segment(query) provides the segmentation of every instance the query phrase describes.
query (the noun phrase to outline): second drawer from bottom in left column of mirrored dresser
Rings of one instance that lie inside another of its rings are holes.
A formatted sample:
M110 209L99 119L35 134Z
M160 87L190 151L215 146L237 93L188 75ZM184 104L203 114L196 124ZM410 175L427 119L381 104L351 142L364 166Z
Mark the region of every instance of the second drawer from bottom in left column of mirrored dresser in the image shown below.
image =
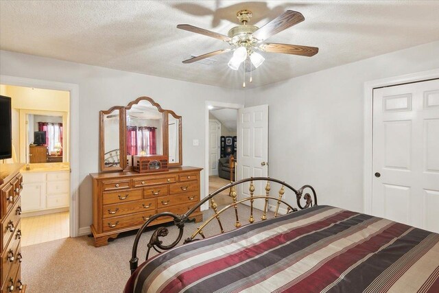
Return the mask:
M104 218L117 217L128 213L138 213L141 211L151 211L154 214L156 210L156 199L135 200L123 204L107 204L102 207L102 215Z

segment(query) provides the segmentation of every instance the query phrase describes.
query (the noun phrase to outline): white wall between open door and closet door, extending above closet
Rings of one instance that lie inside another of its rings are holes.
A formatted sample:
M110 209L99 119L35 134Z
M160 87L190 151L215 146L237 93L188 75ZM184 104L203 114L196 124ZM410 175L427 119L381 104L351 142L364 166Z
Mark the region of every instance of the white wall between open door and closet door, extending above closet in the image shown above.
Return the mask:
M269 105L270 176L363 211L364 82L438 68L434 42L246 91Z

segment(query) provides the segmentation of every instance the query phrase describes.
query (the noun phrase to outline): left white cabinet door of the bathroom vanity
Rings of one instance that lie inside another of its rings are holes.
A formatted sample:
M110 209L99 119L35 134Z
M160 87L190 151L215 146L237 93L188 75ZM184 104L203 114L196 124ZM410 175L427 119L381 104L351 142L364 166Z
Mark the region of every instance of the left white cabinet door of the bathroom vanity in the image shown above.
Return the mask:
M21 191L21 206L23 212L38 211L46 208L45 189L45 183L23 184L23 191Z

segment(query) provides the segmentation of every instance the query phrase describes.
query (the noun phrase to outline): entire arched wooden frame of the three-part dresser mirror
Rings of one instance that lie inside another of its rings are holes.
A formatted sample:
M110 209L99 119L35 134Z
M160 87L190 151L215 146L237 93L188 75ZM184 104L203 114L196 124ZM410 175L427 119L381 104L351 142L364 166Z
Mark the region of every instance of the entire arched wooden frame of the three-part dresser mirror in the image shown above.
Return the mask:
M169 144L168 144L168 115L172 115L178 120L178 162L168 163L169 167L181 166L183 162L183 152L182 152L182 117L176 115L173 110L165 110L160 104L156 103L151 97L138 97L134 101L128 103L127 106L114 106L108 110L99 111L99 165L101 167L101 172L115 172L115 171L130 171L132 166L127 164L126 156L126 111L130 110L134 104L139 104L141 101L148 101L155 106L160 113L163 115L163 156L169 156ZM121 123L119 124L119 166L118 167L105 167L104 165L104 115L112 113L113 110L119 110L119 119Z

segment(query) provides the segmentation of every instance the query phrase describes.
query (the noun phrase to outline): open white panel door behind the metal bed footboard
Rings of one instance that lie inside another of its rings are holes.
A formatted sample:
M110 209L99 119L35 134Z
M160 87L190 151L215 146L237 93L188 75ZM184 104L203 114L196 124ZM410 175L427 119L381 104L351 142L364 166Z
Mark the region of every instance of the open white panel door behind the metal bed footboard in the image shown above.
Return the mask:
M237 141L237 180L268 176L268 105L238 109ZM249 185L239 185L239 197L250 196ZM254 187L255 195L265 194L262 181ZM263 200L255 200L254 207L263 209Z

